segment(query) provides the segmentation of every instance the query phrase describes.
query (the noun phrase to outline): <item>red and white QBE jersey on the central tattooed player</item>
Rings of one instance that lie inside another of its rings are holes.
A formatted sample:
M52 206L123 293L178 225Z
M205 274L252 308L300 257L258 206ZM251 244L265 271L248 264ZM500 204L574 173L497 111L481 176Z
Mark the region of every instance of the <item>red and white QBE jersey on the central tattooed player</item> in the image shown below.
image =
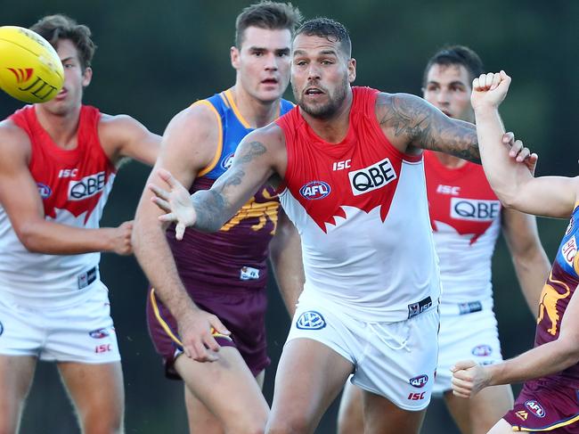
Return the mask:
M288 151L281 205L301 235L305 293L364 321L401 321L440 294L424 168L380 129L378 91L353 92L341 143L322 141L299 108L276 121Z

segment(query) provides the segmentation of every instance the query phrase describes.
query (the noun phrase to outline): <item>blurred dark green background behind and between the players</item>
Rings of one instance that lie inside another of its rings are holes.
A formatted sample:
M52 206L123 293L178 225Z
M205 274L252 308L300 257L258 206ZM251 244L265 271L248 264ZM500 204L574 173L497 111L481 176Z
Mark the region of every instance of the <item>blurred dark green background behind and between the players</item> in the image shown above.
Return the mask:
M99 45L94 79L85 102L102 111L128 113L152 131L189 103L231 86L229 63L233 23L249 1L41 1L5 4L0 25L29 27L48 13L63 12L87 24ZM420 94L428 57L441 45L474 48L487 70L504 69L513 78L502 106L508 129L515 131L540 156L539 175L575 176L579 97L579 2L517 2L514 0L294 1L306 18L330 16L345 23L357 59L356 83L386 92ZM288 94L291 98L291 95ZM0 116L20 107L0 93ZM131 163L121 169L105 209L102 225L131 219L149 168ZM539 220L542 242L554 257L567 222ZM493 261L495 304L504 356L530 348L534 318L514 278L504 242ZM186 419L180 383L167 381L149 340L144 300L146 282L134 258L103 255L102 275L110 288L113 316L123 356L128 433L184 433ZM267 326L273 364L265 379L271 402L273 375L288 330L289 317L275 285L269 285ZM518 392L519 387L515 386ZM223 397L224 400L227 397ZM333 405L317 432L335 431ZM77 424L58 375L39 364L21 432L72 433ZM422 430L456 433L444 406L435 400Z

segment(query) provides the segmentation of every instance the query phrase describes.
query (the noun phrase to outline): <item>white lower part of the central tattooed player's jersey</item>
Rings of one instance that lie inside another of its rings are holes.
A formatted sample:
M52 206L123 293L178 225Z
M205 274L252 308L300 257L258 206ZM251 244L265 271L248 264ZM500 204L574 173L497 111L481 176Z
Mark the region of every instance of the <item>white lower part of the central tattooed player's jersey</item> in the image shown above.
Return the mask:
M428 298L436 306L440 283L421 161L403 162L384 222L380 207L366 213L342 206L346 218L336 217L324 233L289 190L280 200L301 235L305 292L368 322L404 320Z

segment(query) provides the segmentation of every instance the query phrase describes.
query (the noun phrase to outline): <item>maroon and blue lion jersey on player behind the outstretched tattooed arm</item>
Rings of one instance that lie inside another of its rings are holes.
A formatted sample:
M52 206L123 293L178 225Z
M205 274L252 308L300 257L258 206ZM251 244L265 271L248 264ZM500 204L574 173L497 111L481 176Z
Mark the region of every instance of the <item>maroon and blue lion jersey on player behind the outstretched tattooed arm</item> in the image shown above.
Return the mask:
M215 113L219 143L213 161L192 184L192 193L211 188L231 167L243 137L254 129L243 119L231 90L195 103L205 104ZM281 100L280 115L292 108L291 102ZM177 270L193 297L205 291L265 289L268 246L277 226L279 206L277 193L266 184L216 233L187 229L179 242L175 240L175 226L167 228Z

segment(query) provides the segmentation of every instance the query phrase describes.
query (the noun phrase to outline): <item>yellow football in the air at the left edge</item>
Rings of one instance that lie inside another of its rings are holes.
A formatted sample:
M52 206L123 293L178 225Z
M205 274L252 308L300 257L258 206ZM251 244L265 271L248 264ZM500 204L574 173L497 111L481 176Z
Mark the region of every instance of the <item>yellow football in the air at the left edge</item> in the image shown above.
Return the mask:
M0 27L0 88L23 102L47 102L64 84L61 60L44 37L17 26Z

